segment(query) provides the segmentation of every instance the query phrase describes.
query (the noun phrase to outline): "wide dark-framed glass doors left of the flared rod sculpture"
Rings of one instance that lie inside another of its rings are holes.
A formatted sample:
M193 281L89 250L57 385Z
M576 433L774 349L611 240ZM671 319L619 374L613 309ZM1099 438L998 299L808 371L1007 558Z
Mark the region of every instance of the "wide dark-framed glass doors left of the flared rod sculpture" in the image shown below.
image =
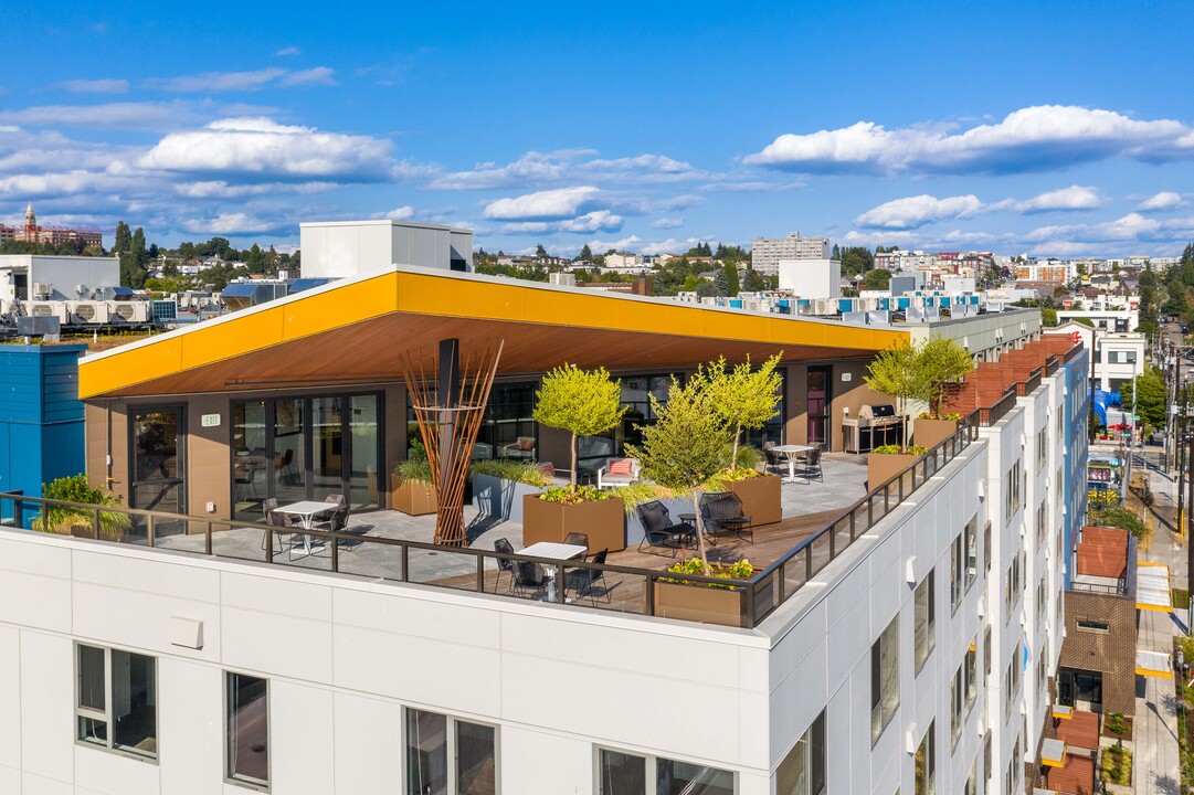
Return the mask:
M381 406L378 394L234 402L235 518L259 520L270 497L287 505L344 494L355 511L380 507Z

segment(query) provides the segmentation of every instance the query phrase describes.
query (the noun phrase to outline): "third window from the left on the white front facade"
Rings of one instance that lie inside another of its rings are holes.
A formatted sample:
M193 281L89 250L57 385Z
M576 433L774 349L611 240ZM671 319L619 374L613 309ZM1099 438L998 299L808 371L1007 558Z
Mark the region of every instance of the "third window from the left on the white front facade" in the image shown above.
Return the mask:
M407 709L406 795L493 795L497 737L493 726Z

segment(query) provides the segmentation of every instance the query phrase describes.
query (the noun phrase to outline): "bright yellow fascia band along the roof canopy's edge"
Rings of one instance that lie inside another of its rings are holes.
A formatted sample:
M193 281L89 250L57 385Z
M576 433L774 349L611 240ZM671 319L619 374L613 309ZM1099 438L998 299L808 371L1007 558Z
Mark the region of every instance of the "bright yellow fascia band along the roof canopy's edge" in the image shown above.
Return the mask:
M79 396L139 383L402 312L444 318L675 334L830 349L882 350L909 332L744 313L430 269L340 279L281 301L80 360Z

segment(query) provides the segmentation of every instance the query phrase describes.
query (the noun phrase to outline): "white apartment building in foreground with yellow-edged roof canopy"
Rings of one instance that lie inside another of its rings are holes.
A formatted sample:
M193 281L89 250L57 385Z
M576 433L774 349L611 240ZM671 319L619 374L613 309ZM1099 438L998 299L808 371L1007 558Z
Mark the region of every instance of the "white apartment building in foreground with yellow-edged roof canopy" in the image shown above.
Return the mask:
M504 337L507 377L542 371L544 339L644 382L719 352L783 347L794 439L821 413L832 425L876 401L856 365L906 339L400 269L88 357L90 474L112 477L113 461L119 477L135 473L140 418L179 412L176 449L190 462L177 454L170 480L216 506L235 499L238 432L293 438L308 401L314 466L328 396L361 389L383 401L375 424L340 421L351 445L376 439L375 470L388 472L405 455L407 412L386 350L448 334ZM1087 393L1075 384L1087 360L1061 337L1005 345L1002 366L980 365L950 398L970 425L727 592L740 627L640 615L650 599L547 603L411 581L406 563L362 577L315 571L326 557L269 565L263 525L238 559L223 534L239 530L217 529L204 548L208 520L230 525L211 513L190 520L190 553L0 531L0 588L37 594L0 600L0 791L1022 791L1057 671L1059 550L1081 516L1058 481L1085 472ZM250 418L258 400L273 419ZM558 436L537 444L560 446ZM210 491L217 481L224 491ZM0 499L0 516L11 505ZM351 555L339 553L341 572Z

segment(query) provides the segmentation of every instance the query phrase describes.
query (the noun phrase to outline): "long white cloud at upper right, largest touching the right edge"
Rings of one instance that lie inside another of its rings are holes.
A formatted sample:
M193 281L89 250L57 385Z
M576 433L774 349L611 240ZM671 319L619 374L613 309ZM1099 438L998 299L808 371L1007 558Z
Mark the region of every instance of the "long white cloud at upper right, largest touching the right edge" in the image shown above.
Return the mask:
M1194 156L1194 131L1171 119L1137 121L1115 111L1039 105L995 124L888 130L874 122L784 134L747 165L798 172L1015 173L1114 156L1165 161Z

